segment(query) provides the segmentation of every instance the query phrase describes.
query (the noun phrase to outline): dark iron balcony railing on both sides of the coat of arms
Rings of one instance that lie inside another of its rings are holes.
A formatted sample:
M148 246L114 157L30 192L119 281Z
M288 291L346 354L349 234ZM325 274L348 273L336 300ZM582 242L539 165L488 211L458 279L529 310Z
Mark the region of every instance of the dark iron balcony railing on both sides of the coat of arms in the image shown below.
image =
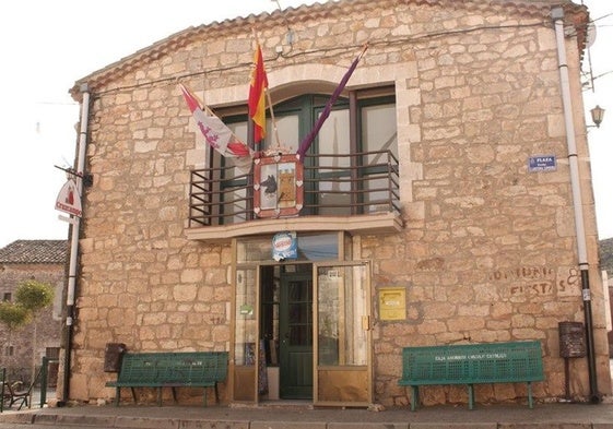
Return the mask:
M298 216L400 213L399 165L390 151L307 156L303 189ZM258 221L252 169L240 174L232 165L191 171L190 228Z

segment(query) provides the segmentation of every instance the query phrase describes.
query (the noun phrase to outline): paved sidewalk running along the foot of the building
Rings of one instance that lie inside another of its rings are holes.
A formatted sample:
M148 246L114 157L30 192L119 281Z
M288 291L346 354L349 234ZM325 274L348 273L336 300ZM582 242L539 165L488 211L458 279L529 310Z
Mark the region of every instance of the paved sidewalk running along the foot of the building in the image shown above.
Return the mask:
M613 404L479 405L381 412L307 406L114 405L32 408L0 414L0 424L150 429L613 429ZM23 425L23 426L22 426Z

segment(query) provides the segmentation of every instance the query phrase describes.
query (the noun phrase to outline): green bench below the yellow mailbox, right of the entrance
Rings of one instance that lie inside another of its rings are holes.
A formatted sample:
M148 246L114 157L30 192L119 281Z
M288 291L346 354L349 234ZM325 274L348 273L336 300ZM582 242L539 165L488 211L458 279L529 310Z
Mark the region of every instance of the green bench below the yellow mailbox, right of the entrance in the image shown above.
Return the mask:
M474 384L528 383L528 405L533 407L532 382L544 380L538 341L404 347L399 385L412 388L411 410L420 403L420 385L467 384L469 408L474 408Z

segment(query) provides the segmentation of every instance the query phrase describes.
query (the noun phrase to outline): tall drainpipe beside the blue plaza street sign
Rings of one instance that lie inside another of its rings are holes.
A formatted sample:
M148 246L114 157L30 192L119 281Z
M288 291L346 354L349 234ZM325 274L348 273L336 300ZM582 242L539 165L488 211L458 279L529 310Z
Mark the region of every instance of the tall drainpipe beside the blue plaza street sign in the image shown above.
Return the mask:
M573 104L570 100L570 84L568 81L568 64L566 63L566 47L564 44L564 10L552 9L552 19L555 27L557 58L564 109L564 123L566 126L566 143L568 145L568 165L570 168L570 186L573 189L573 205L575 212L575 230L577 235L577 252L579 257L579 272L581 273L581 295L583 298L583 318L586 322L586 346L588 372L590 381L590 402L599 404L602 401L598 393L596 374L596 353L593 344L592 307L590 294L590 275L588 252L586 246L586 230L583 224L583 204L581 201L581 186L579 167L577 164L577 144L575 141L575 124L573 122Z

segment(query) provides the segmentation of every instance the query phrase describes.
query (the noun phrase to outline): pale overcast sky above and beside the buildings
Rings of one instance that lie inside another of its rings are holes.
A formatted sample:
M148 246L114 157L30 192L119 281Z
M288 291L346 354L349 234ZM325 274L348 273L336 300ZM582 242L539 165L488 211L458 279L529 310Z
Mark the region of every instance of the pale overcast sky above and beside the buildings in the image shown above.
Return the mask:
M580 2L580 0L575 0ZM314 0L280 0L283 9ZM321 1L320 1L321 2ZM613 13L613 1L585 0L592 19ZM17 239L64 239L68 224L55 210L74 158L79 107L73 83L189 26L272 12L270 0L24 0L0 3L0 247ZM613 17L596 21L590 48L596 88L586 109L608 109L589 129L600 238L613 237ZM586 70L588 68L586 67ZM590 195L588 195L589 198Z

